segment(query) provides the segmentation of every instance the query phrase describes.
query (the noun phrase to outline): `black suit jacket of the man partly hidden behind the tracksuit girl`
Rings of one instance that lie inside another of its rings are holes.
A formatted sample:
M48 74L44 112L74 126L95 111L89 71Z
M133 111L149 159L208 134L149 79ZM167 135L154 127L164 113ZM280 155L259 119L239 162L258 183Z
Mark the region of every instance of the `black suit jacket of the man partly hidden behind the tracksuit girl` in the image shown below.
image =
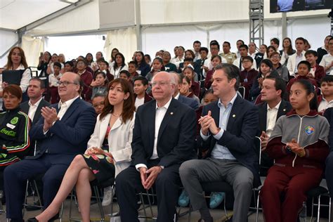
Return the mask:
M266 131L266 124L267 124L267 103L263 102L258 105L259 109L259 133L257 136L261 135L262 131ZM281 116L286 115L287 112L292 110L292 105L290 105L289 102L286 100L281 100L281 104L278 110L278 116L276 117L276 120L278 120Z

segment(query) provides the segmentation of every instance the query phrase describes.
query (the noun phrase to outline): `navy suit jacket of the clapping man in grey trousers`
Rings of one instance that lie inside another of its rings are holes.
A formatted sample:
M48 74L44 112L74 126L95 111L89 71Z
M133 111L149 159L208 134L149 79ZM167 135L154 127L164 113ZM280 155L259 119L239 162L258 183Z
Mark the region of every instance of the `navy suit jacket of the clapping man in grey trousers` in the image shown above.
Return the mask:
M202 116L207 115L209 110L211 111L211 117L214 118L216 126L218 126L220 119L218 100L205 105L202 109ZM260 185L259 150L256 150L254 145L258 125L258 107L238 95L230 111L227 128L223 136L221 136L218 141L214 136L209 136L207 141L203 141L200 136L200 149L208 150L206 157L210 157L211 151L216 143L225 146L238 162L252 171L254 175L254 186L258 186Z

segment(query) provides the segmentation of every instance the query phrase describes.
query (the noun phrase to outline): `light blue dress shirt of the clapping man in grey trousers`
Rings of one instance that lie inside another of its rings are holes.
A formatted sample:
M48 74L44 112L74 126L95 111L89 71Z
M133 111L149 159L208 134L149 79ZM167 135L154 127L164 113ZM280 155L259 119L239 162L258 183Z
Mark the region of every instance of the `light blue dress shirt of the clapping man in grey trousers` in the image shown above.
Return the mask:
M226 107L223 105L223 103L221 103L221 100L218 100L218 107L220 108L218 127L221 130L216 135L214 135L216 140L219 140L223 136L224 131L227 129L230 112L233 109L233 103L235 103L236 98L237 93L235 93L235 96L230 100ZM200 136L204 141L207 141L210 135L205 136L200 130ZM218 143L215 143L214 148L211 151L211 157L216 159L236 159L228 150L228 148L223 145L218 145Z

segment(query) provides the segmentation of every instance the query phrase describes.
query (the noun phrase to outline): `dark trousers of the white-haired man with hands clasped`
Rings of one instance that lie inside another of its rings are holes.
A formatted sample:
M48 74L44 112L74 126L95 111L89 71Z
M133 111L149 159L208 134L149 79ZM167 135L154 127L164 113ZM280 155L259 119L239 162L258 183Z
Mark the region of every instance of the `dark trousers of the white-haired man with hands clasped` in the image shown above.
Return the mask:
M158 160L148 162L148 169L158 164ZM181 185L178 164L165 167L157 176L155 188L157 193L157 221L173 221ZM116 193L122 222L138 221L138 199L136 195L143 191L140 172L135 166L129 166L116 177Z

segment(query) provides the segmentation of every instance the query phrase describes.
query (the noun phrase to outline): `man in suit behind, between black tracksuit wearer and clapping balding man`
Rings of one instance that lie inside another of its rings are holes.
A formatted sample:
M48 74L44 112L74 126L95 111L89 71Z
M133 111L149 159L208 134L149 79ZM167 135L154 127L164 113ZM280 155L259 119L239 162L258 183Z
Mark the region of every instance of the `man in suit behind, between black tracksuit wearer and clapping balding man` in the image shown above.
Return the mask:
M29 97L29 101L25 101L24 103L21 103L20 107L22 112L27 114L29 118L31 119L32 126L38 122L38 120L41 118L41 108L42 107L48 107L50 103L48 103L46 100L41 98L43 96L43 93L45 91L45 84L41 79L39 78L32 78L29 81L29 86L27 89L27 96ZM34 145L34 148L37 150L37 142L32 141L32 145ZM29 155L34 155L35 149L30 149Z

